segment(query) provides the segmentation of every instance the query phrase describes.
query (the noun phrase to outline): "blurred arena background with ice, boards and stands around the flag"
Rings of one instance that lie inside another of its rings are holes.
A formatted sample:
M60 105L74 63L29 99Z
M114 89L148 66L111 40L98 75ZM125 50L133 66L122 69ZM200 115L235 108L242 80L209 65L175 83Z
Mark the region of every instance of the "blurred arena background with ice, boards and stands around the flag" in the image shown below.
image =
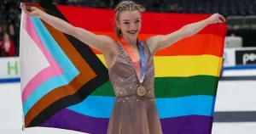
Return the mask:
M20 131L20 0L0 0L0 133ZM23 0L22 2L40 2ZM135 0L145 12L223 14L229 28L218 84L212 134L256 133L256 0ZM44 0L44 3L114 8L119 0Z

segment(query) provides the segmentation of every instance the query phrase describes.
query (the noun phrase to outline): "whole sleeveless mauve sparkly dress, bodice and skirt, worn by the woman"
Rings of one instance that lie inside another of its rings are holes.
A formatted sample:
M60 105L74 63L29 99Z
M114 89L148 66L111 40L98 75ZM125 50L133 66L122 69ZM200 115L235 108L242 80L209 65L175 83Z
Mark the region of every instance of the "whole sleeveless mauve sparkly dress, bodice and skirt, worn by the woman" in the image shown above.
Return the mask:
M113 67L108 69L116 95L108 124L108 134L162 134L160 119L154 102L154 63L146 42L143 42L147 60L143 87L144 96L137 94L138 81L131 58L123 46Z

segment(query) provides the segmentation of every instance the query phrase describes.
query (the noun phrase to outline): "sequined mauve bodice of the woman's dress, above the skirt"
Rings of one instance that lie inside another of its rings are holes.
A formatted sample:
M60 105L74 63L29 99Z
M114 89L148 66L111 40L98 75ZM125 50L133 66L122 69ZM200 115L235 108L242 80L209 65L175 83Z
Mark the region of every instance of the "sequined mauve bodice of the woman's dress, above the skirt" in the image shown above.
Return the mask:
M145 98L154 98L154 62L146 42L142 42L146 56L146 75L143 81L143 87L146 89ZM110 81L117 98L134 98L137 96L137 87L140 85L136 71L129 55L124 47L119 45L119 54L113 64L108 69ZM130 100L130 99L129 99Z

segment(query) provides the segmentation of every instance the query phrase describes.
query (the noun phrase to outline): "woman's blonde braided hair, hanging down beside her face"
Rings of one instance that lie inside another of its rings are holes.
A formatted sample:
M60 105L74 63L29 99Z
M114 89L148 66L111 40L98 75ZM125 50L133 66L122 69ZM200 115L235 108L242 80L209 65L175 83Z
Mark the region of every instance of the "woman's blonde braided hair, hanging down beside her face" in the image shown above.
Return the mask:
M117 5L117 7L114 9L115 12L115 21L114 21L114 32L116 36L119 38L122 36L122 31L119 29L119 27L116 24L116 21L119 21L119 14L122 11L133 11L138 10L140 12L140 7L137 3L134 3L132 1L123 1Z

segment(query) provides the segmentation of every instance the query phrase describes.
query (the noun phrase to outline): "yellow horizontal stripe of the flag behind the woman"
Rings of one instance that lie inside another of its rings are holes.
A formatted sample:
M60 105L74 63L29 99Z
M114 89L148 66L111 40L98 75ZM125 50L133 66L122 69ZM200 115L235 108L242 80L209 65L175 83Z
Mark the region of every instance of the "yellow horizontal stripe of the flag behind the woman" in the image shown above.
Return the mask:
M106 65L102 54L97 54ZM212 75L220 73L222 58L213 55L155 56L155 77Z

